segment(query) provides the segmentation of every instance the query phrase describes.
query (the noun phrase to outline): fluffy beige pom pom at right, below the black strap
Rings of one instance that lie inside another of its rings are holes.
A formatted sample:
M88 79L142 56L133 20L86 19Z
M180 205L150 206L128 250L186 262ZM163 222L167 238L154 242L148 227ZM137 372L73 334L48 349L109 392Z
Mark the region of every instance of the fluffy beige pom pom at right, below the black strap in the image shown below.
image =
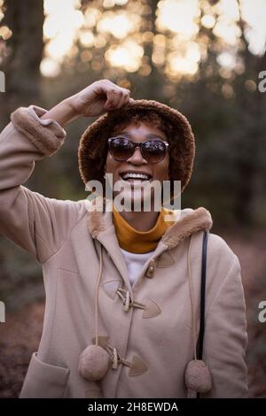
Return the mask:
M189 390L207 393L212 388L209 369L205 362L200 359L194 359L188 363L184 377L186 387Z

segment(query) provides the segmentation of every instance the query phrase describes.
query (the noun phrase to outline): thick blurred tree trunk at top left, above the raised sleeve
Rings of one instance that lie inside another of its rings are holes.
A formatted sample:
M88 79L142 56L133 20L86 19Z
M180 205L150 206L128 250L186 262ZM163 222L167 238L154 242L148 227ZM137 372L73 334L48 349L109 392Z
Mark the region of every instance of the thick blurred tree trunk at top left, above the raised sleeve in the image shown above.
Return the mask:
M40 63L43 58L43 0L5 0L1 24L12 30L6 41L3 69L6 93L0 94L1 126L20 105L35 102L40 96Z

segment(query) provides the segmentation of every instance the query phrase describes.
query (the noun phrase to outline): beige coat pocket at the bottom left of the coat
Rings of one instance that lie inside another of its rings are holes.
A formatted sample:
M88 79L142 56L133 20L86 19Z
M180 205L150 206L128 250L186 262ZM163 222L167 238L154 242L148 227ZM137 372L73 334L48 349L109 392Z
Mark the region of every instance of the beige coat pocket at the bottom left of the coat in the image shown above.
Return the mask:
M69 373L68 368L43 363L34 352L27 369L20 398L64 397Z

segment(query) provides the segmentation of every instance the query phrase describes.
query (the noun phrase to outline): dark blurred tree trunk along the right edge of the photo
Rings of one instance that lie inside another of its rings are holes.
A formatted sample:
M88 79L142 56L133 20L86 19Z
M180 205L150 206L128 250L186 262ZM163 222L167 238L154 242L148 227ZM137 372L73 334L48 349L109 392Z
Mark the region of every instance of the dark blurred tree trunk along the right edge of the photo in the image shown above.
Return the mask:
M266 185L266 120L263 116L266 112L266 96L256 88L259 73L266 68L266 50L262 55L250 52L245 36L248 27L242 19L240 5L239 16L240 39L243 42L243 49L239 52L246 72L241 75L240 82L234 82L236 108L240 117L233 131L236 132L238 128L241 132L237 143L236 161L240 181L235 198L235 214L240 223L250 225L262 214L260 207L254 204L258 181L264 185L261 190Z

